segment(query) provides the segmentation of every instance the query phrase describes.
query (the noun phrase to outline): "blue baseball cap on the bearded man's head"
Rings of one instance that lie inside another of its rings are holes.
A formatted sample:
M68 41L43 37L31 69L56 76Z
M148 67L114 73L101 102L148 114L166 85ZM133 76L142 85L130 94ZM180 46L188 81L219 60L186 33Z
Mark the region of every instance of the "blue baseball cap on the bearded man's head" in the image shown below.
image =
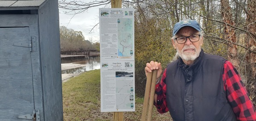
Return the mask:
M190 20L190 19L185 19L185 20L181 20L180 22L178 23L175 23L174 25L174 29L173 29L173 32L172 32L172 35L176 35L177 32L179 32L179 30L182 28L182 27L185 27L185 26L190 26L190 27L193 27L195 30L197 30L198 32L201 32L201 28L200 28L200 25L199 23L196 21L196 20Z

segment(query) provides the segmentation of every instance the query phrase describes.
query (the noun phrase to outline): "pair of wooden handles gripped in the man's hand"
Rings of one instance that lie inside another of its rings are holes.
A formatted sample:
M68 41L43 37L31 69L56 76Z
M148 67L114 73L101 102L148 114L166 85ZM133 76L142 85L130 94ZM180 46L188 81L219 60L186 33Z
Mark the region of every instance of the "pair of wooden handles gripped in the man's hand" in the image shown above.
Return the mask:
M157 80L157 70L153 70L153 72L148 73L141 121L146 121L147 114L148 114L147 121L151 121L152 119L156 80ZM149 105L148 105L148 98L149 98Z

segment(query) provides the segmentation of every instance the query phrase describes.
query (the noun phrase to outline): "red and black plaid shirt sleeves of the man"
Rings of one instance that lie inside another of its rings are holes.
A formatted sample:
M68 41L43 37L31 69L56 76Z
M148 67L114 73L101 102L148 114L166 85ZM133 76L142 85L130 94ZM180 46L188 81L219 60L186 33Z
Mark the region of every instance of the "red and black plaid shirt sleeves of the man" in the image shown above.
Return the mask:
M166 70L163 72L162 79L156 85L157 102L154 105L158 112L165 113L169 109L166 105ZM256 121L256 111L252 101L244 87L241 77L235 67L229 61L224 63L224 71L222 74L224 83L224 91L226 92L227 101L236 114L239 121Z

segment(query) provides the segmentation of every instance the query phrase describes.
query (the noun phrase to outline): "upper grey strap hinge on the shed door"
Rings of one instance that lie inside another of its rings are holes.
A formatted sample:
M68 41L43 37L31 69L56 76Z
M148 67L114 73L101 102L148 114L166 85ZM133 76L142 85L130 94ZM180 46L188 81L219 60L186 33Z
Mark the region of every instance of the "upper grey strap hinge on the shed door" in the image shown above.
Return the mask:
M28 41L21 41L21 42L17 42L17 43L13 43L12 46L22 46L22 47L29 47L30 52L32 51L36 51L37 50L37 41L36 41L36 37L32 36L30 38L30 40Z

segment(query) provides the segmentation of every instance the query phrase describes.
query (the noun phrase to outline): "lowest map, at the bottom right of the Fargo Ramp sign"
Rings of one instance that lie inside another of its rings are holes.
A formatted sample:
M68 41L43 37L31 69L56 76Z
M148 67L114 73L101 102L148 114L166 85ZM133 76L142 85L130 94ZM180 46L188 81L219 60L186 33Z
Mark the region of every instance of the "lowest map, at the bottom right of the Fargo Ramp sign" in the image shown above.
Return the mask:
M116 94L116 109L133 109L134 95L132 93Z

